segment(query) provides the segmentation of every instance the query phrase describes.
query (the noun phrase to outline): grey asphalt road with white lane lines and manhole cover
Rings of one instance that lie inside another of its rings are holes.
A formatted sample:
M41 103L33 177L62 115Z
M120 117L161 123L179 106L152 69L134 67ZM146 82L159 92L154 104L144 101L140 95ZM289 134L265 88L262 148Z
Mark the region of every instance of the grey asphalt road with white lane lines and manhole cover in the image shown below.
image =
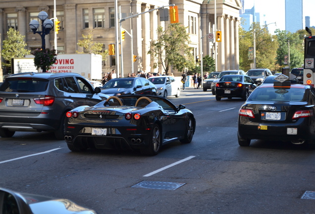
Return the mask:
M99 214L315 214L315 194L301 199L315 191L314 149L257 140L240 147L240 99L215 101L193 88L169 99L196 117L190 144L165 145L154 157L74 153L51 133L17 132L0 138L0 187L66 198Z

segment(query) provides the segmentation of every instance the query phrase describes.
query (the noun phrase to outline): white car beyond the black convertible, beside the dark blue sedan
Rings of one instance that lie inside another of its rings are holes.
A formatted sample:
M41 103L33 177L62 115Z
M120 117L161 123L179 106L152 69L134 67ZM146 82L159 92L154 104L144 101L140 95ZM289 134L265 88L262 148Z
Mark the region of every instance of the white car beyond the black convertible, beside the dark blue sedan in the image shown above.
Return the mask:
M180 82L171 76L155 76L148 79L157 87L157 96L166 98L167 96L179 97Z

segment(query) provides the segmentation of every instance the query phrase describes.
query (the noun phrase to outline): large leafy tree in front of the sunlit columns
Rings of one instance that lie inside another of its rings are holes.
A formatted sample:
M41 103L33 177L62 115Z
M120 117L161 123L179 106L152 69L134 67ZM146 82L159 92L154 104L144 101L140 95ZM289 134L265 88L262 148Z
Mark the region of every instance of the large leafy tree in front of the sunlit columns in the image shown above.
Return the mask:
M189 47L190 37L182 24L169 24L165 30L158 26L157 38L152 41L148 52L157 60L154 68L162 66L167 75L170 66L180 72L195 66L192 48Z

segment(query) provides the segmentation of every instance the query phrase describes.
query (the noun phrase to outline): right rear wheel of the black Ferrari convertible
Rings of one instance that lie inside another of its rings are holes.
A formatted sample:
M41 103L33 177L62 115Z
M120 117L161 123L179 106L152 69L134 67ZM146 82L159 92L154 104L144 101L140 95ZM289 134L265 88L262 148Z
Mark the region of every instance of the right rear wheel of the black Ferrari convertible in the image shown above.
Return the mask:
M155 156L158 154L162 145L161 130L157 124L153 125L150 136L149 146L145 149L141 149L140 152L143 155Z

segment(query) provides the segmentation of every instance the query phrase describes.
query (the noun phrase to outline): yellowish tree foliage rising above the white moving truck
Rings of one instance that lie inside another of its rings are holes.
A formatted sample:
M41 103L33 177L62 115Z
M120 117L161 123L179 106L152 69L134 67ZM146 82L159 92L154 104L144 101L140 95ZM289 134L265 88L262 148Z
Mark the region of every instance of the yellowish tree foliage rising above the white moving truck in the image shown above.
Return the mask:
M77 45L83 48L83 52L78 52L78 54L100 54L102 55L102 60L106 60L108 56L108 50L103 51L103 44L97 43L93 40L93 35L91 32L89 35L83 35L83 40L79 40Z

